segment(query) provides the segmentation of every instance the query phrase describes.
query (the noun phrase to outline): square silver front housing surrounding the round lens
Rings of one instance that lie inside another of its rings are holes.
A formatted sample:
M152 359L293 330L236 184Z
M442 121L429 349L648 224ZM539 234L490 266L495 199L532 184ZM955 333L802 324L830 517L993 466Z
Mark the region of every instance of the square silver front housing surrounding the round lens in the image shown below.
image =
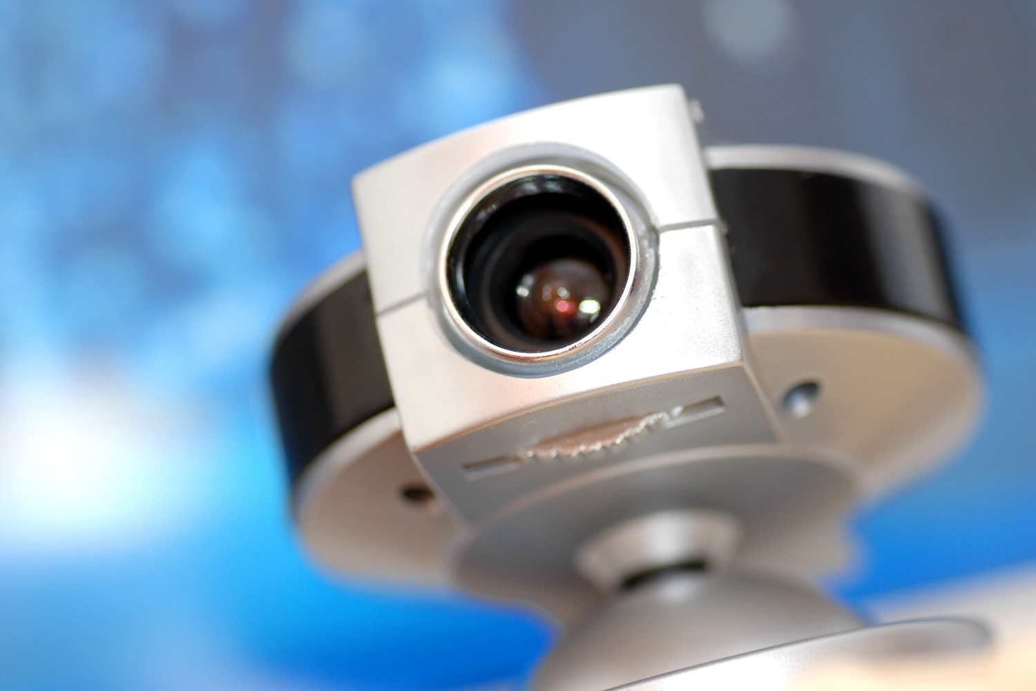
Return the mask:
M623 192L639 199L651 224L637 229L644 254L671 257L672 268L663 260L657 277L645 277L651 300L640 314L629 315L636 326L606 351L592 352L592 358L573 353L563 363L568 367L553 374L530 368L514 376L524 363L500 372L454 345L443 328L454 320L443 314L436 263L449 220L463 208L458 200L487 177L544 159L596 169L594 177L607 171L625 183ZM426 173L430 168L436 173ZM412 186L403 189L405 180ZM744 366L740 306L722 230L679 88L587 98L506 118L380 164L356 177L354 191L404 436L441 500L465 521L585 472L586 464L518 459L534 444L601 423L719 397L738 416L739 429L726 435L716 430L709 445L775 440ZM672 448L686 445L674 440ZM499 472L505 469L515 472Z

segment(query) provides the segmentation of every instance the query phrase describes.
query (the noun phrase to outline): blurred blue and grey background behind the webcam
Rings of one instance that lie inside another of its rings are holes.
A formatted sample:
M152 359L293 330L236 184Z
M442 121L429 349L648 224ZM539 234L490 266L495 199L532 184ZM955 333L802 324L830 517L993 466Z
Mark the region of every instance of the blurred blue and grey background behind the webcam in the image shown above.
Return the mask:
M307 562L267 351L357 246L352 174L662 82L707 142L881 156L951 222L983 427L829 587L1036 560L1036 2L0 0L0 688L520 683L533 614Z

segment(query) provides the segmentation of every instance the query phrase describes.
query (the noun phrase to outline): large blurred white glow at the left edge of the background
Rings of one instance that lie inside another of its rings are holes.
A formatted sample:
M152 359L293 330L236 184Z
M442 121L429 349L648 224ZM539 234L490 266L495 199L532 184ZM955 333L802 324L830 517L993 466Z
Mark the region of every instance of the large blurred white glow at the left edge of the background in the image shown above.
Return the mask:
M0 550L139 543L196 512L181 416L111 379L30 367L0 411Z

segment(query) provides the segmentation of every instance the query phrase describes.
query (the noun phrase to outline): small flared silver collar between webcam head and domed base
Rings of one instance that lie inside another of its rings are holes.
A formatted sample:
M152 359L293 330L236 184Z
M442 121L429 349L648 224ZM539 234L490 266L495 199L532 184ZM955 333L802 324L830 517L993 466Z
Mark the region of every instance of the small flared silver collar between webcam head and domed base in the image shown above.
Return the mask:
M580 576L604 593L653 570L700 564L721 571L741 539L741 522L709 509L672 509L637 516L605 528L576 550Z

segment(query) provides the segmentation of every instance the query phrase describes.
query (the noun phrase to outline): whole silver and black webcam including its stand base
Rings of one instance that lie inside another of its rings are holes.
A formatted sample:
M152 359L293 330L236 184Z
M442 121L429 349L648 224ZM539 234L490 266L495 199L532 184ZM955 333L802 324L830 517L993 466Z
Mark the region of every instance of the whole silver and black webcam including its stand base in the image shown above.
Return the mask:
M354 178L363 249L274 346L303 541L538 607L566 634L535 691L982 647L812 585L846 513L980 408L932 205L854 153L702 148L699 114L671 85L579 98Z

